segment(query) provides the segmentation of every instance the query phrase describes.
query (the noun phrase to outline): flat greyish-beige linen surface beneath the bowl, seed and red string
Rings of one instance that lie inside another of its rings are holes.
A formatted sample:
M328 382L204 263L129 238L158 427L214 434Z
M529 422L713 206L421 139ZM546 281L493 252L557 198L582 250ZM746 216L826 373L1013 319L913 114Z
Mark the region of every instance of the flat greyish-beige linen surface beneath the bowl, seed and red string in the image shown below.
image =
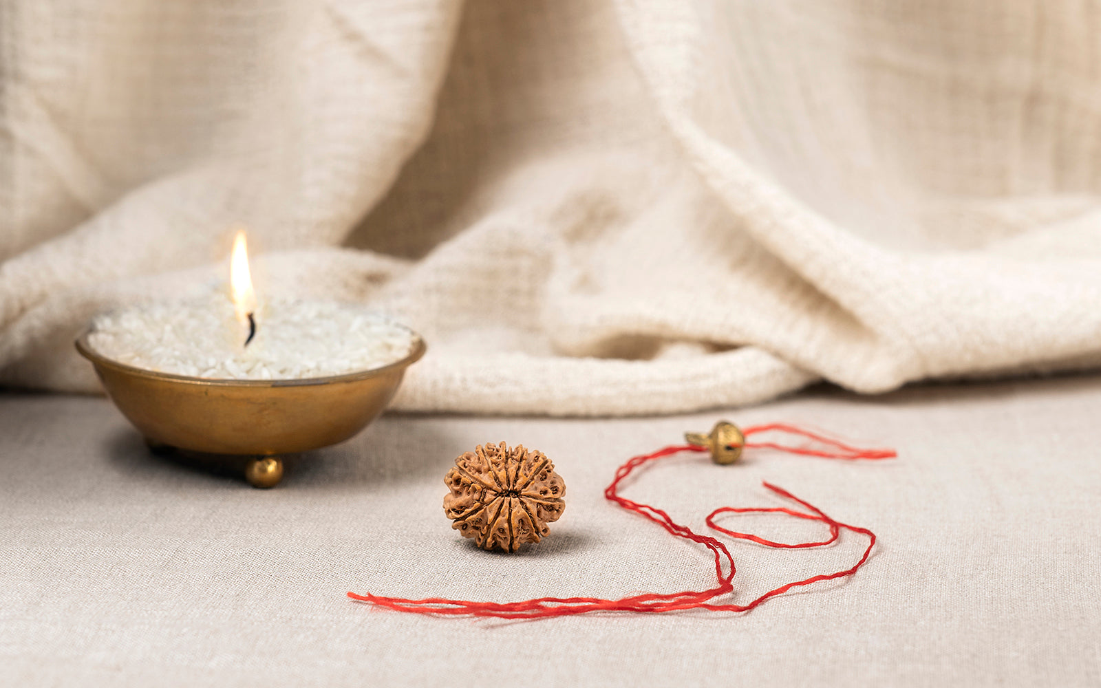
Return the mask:
M880 544L844 582L742 615L426 618L349 590L510 601L713 583L705 548L613 507L635 454L717 414L631 419L386 415L259 491L150 455L106 400L0 395L0 685L1097 686L1101 379L814 391L730 416L826 427L900 451L844 462L686 454L622 490L706 531L722 505L780 506L775 482ZM545 451L567 507L537 546L483 553L444 516L476 444ZM774 539L820 524L730 517ZM745 602L847 568L865 540L780 552L728 540Z

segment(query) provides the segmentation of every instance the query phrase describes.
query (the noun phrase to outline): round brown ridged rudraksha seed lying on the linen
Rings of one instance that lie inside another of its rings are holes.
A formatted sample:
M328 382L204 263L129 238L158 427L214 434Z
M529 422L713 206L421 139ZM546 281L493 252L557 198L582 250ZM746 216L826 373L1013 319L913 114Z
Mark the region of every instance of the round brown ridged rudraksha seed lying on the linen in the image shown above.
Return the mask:
M566 483L542 451L486 444L455 459L444 478L451 527L482 549L515 552L537 543L566 510Z

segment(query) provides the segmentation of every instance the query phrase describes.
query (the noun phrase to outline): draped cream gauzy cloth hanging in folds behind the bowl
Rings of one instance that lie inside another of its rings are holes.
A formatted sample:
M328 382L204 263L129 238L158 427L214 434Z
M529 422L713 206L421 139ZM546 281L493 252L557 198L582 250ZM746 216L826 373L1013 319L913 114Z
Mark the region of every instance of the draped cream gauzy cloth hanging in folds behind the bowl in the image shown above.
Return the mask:
M396 404L631 414L1101 363L1069 0L0 0L0 380L221 279L429 342Z

